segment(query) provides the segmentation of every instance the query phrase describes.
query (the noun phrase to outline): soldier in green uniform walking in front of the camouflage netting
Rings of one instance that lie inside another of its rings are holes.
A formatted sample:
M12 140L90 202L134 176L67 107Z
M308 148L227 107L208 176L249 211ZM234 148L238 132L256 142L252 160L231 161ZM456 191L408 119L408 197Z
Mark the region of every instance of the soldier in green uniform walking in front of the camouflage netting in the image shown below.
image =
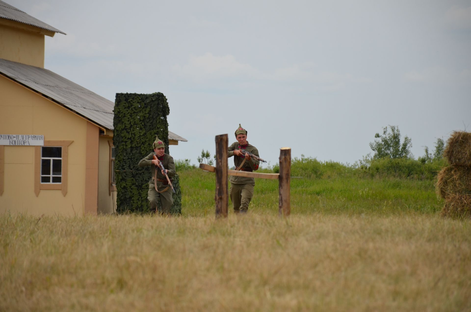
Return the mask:
M165 173L158 167L159 161L162 162L163 167L169 178L175 176L175 164L173 157L165 154L165 143L163 143L157 136L155 136L154 153L150 153L139 161L139 167L151 166L152 178L149 181L149 192L147 199L149 200L151 211L157 212L157 200L160 197L162 214L169 214L170 208L173 205L172 189L169 186ZM154 159L154 155L157 159ZM172 179L170 179L172 181Z

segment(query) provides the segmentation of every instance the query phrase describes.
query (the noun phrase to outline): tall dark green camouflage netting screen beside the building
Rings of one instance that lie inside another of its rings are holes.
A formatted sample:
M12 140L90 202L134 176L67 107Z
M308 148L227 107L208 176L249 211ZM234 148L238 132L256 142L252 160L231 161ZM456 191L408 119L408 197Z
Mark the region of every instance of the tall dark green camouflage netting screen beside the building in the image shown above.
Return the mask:
M116 93L114 103L114 150L118 213L149 213L147 200L149 167L139 167L138 162L153 152L155 135L165 142L169 154L170 108L167 98L158 92L152 94ZM178 175L173 178L171 213L181 213L181 191ZM159 203L160 209L160 203Z

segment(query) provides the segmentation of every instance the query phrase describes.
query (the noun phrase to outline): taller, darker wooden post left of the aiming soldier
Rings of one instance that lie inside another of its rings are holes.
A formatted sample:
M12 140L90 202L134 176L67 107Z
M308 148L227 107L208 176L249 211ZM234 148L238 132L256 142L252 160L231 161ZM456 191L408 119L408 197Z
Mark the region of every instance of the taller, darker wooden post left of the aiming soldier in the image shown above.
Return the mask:
M227 218L227 134L216 136L216 218Z

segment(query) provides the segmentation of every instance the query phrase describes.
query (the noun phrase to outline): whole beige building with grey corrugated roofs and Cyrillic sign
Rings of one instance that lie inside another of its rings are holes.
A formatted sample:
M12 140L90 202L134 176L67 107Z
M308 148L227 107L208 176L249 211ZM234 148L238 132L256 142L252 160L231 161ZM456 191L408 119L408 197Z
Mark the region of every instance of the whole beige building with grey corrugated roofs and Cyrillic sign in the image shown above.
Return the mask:
M44 68L56 33L0 0L0 213L115 211L114 103Z

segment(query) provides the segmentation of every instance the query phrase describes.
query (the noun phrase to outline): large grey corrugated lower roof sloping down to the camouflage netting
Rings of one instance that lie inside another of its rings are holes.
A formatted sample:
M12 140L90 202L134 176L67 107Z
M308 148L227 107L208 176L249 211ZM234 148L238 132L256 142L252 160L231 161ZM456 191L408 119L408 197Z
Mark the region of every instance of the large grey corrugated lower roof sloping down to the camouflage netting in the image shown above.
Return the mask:
M41 67L0 58L0 73L53 99L76 114L113 130L112 101Z

